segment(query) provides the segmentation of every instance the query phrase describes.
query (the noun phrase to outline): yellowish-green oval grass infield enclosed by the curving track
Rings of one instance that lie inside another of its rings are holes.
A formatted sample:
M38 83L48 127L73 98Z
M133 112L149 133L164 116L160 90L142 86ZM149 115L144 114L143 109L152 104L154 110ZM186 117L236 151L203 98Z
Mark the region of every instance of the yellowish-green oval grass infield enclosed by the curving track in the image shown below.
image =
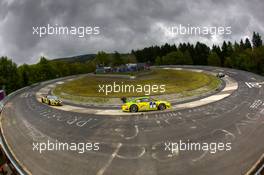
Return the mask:
M86 102L107 102L107 98L120 98L144 96L145 93L110 93L107 96L99 93L98 85L102 84L129 84L129 85L166 85L165 93L152 93L150 95L163 94L184 94L184 96L193 95L193 91L202 89L200 93L204 93L216 89L220 80L215 76L187 70L170 70L170 69L153 69L150 73L138 76L135 79L117 78L106 76L86 76L80 79L66 82L58 85L53 93L65 99ZM197 92L195 92L195 95ZM89 97L89 98L87 98ZM107 98L106 98L107 97Z

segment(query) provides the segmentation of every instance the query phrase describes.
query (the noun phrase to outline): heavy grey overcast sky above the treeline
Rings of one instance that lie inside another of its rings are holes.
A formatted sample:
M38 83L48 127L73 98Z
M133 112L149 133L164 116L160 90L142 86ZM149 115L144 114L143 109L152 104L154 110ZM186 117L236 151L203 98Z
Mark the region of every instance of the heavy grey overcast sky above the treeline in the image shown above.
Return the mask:
M219 44L264 37L263 0L0 0L0 56L16 63L106 52L130 52L163 43ZM99 26L100 34L33 35L33 26ZM165 35L176 25L231 26L231 35Z

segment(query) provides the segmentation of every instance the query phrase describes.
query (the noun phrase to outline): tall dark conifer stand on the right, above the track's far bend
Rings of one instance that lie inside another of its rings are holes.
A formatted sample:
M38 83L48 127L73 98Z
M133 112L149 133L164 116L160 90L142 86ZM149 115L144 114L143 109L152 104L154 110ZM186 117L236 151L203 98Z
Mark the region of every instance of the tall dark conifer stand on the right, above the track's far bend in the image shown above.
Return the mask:
M151 64L187 64L230 67L264 74L264 46L259 33L240 42L226 42L221 46L197 42L180 43L178 46L165 44L152 46L142 50L132 50L139 62L149 61Z

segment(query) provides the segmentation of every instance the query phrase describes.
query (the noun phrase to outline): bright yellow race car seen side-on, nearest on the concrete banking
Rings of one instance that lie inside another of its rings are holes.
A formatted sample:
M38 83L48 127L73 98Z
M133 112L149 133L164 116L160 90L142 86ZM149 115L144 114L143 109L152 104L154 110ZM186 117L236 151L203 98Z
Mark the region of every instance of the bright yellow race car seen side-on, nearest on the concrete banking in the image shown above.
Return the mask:
M170 109L171 104L167 101L156 100L151 97L139 97L122 105L124 112L155 111Z

